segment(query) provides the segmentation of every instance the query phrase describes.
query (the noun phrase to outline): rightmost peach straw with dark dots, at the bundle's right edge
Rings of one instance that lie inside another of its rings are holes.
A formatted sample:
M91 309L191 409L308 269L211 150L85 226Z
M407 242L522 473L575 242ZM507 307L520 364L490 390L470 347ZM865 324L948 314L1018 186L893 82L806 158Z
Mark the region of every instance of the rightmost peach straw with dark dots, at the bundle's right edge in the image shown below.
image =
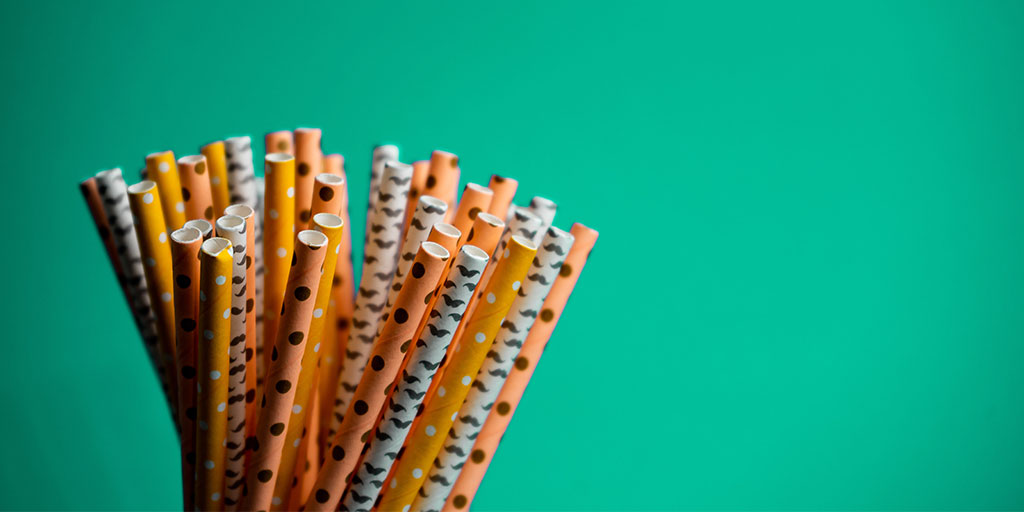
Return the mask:
M483 481L487 466L494 460L498 444L508 429L512 415L515 414L516 408L522 399L526 385L534 375L534 370L537 369L537 365L541 360L544 348L547 346L548 340L551 339L558 318L561 317L565 304L572 294L572 289L583 272L584 265L587 264L587 258L590 257L590 252L597 242L598 232L583 224L573 224L569 232L575 238L575 242L569 249L565 262L558 270L558 276L555 278L551 292L544 300L537 322L526 336L522 350L519 351L519 356L515 359L514 369L510 372L505 385L502 386L501 392L495 400L495 406L490 409L487 420L483 423L483 428L476 437L476 442L470 453L470 462L463 466L462 472L456 480L447 503L444 505L444 510L447 512L466 510L473 502L476 490L479 488L480 482Z

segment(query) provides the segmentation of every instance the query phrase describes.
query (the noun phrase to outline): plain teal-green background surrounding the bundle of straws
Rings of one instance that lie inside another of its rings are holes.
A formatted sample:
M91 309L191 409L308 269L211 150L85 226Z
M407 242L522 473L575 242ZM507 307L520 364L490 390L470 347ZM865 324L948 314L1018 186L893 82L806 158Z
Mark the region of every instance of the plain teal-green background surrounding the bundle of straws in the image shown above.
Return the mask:
M1024 508L1024 2L824 3L5 3L0 507L178 505L78 180L316 126L601 231L478 510Z

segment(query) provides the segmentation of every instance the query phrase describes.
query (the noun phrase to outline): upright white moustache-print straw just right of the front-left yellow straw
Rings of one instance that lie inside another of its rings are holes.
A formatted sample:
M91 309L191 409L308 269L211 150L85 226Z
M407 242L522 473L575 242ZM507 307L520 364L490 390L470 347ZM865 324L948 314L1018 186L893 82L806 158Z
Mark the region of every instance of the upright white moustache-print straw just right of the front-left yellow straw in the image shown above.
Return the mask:
M244 205L243 205L244 206ZM246 219L217 219L217 236L231 243L231 318L227 375L227 454L224 462L224 505L233 509L245 484L246 447Z

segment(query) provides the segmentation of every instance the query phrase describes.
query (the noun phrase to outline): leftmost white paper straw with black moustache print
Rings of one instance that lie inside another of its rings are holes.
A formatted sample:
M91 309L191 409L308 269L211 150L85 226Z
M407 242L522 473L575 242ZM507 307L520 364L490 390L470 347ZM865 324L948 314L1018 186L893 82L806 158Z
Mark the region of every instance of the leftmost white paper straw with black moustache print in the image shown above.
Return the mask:
M132 315L142 335L142 346L145 347L150 361L157 372L157 378L164 389L168 404L172 403L171 393L174 388L168 384L164 361L160 356L160 343L157 336L157 315L150 302L150 292L145 283L145 270L142 265L142 255L135 237L135 223L132 220L131 209L128 206L128 189L121 175L121 169L111 169L96 173L96 189L103 200L103 211L106 222L111 226L114 244L125 272L125 283L131 296Z

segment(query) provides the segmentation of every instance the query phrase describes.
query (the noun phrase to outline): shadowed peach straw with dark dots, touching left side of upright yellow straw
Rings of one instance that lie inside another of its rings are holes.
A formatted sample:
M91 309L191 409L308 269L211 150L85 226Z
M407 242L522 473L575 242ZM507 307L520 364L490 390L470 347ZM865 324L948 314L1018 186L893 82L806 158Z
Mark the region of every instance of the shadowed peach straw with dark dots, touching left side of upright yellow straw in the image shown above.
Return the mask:
M177 359L178 424L184 509L196 503L196 319L199 317L199 249L203 233L182 227L171 233L174 273L174 350Z

